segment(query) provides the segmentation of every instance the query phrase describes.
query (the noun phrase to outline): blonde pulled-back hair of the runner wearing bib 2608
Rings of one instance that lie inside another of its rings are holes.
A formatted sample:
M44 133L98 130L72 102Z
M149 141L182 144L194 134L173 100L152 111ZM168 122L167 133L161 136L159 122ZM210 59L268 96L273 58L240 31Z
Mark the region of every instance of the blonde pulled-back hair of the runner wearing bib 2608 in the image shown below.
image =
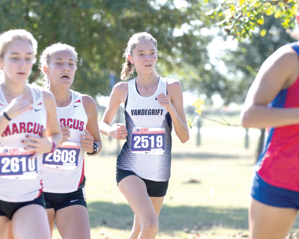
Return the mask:
M74 53L75 65L76 65L76 69L77 69L78 53L74 47L67 45L67 44L63 44L61 42L58 42L58 43L55 43L55 44L52 44L52 45L46 47L45 50L42 51L42 54L39 57L38 68L43 73L43 78L47 81L47 86L49 85L49 79L48 79L48 76L44 73L43 68L44 68L44 66L48 67L50 58L53 55L53 53L55 53L57 51L61 51L61 50L70 50L72 53Z

